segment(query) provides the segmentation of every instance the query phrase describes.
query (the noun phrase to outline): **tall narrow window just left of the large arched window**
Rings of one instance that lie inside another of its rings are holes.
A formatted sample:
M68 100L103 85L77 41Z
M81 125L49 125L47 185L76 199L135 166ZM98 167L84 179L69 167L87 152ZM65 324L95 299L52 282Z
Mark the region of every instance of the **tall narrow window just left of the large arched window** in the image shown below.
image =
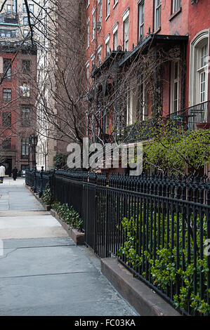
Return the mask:
M179 62L171 63L171 113L178 112L179 99Z

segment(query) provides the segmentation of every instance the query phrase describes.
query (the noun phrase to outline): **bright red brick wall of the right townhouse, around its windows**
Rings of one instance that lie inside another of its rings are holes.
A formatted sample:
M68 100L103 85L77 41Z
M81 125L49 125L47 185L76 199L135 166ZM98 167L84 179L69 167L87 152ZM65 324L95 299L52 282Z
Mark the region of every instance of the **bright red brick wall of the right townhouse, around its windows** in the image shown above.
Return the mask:
M132 50L132 45L138 43L138 0L119 0L117 6L113 8L114 0L110 0L110 17L105 20L106 1L103 0L103 20L102 29L96 33L97 38L91 42L87 49L87 60L90 60L91 70L91 54L96 50L98 45L102 44L102 60L105 58L105 41L104 37L110 33L110 48L113 49L113 33L112 27L115 22L119 22L118 27L118 44L123 46L123 21L122 13L129 7L129 51ZM86 18L90 17L90 36L92 35L92 14L94 6L98 8L98 0L90 0L90 6L86 10ZM183 0L181 10L175 15L171 15L172 0L162 0L162 26L159 34L179 34L189 35L187 49L187 71L186 71L186 93L185 107L188 107L189 94L189 71L190 71L190 42L203 29L210 29L210 1L199 0L197 4L192 5L191 0ZM151 33L154 32L154 0L145 0L145 36L150 28ZM210 54L210 51L209 51ZM169 74L170 70L167 69ZM169 112L169 84L170 77L166 77L164 82L164 113ZM210 74L209 74L210 79ZM210 95L210 80L209 80L209 95ZM208 98L209 99L209 98Z

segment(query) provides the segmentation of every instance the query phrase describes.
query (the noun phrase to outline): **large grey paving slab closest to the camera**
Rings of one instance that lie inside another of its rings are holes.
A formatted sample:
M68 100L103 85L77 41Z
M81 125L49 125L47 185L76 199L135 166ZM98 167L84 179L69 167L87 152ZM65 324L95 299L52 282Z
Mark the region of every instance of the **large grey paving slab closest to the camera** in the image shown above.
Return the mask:
M99 272L1 279L0 315L136 315Z

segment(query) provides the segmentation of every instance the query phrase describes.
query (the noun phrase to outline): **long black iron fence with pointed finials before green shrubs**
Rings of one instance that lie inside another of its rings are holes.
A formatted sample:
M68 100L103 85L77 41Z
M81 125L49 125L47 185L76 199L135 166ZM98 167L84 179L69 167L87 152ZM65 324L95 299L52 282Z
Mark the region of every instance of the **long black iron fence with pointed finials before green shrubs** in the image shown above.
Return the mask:
M68 171L48 176L53 199L80 213L86 245L100 258L116 256L184 314L208 315L209 178ZM38 173L35 178L40 187ZM34 185L29 171L26 183Z

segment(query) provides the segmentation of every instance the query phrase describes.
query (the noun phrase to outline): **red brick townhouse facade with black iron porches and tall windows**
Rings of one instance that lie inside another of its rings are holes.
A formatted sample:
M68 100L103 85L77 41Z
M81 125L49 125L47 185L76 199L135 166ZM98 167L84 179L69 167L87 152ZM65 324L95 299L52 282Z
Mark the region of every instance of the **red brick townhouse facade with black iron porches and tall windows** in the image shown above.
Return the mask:
M116 99L99 114L96 136L110 142L114 130L143 125L157 112L190 131L210 128L209 1L86 2L89 88L98 108L109 95Z

